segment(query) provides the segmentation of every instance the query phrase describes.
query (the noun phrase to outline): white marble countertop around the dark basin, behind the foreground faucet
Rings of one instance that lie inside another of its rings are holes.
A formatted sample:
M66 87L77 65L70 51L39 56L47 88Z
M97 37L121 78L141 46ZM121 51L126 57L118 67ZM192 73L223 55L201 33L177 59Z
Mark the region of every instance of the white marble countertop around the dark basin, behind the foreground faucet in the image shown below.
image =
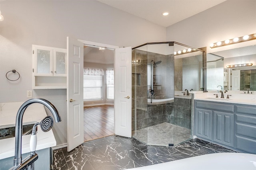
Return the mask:
M16 115L22 104L23 102L0 104L0 128L15 126ZM40 122L46 116L44 105L37 103L32 104L28 106L24 112L22 125ZM30 152L30 137L31 135L22 136L22 154ZM38 127L36 150L54 146L56 146L56 140L52 130L43 132L41 128ZM0 159L14 156L14 149L15 137L0 140Z

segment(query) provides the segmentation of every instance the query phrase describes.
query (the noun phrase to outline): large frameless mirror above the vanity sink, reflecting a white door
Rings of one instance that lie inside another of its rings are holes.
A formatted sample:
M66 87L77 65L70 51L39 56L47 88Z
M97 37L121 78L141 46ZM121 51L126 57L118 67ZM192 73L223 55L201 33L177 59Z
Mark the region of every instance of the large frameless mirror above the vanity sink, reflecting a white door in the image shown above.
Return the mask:
M223 86L225 90L256 90L256 45L218 51L212 54L224 57L223 74L226 77L223 77ZM239 66L239 64L246 63L252 63L253 65ZM236 67L226 67L235 64Z

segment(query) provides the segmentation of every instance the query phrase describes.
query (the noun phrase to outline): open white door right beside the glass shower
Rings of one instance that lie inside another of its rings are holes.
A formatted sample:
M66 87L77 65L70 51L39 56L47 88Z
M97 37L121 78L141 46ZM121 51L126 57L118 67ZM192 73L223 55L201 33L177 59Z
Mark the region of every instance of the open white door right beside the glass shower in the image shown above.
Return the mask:
M114 59L115 134L132 137L132 48L116 49Z

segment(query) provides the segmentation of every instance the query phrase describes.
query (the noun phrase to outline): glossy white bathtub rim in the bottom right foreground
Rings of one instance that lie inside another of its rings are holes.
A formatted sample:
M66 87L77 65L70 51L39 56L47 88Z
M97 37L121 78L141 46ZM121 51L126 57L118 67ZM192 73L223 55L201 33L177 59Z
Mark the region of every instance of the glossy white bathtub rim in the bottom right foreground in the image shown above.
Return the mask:
M256 170L256 154L213 153L132 168L134 170ZM131 170L132 170L131 169Z

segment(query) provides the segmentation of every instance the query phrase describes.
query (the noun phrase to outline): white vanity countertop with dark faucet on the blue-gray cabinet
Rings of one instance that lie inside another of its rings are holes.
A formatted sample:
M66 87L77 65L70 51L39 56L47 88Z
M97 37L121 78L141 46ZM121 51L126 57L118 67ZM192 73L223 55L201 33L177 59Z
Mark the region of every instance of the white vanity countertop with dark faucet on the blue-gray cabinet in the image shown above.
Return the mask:
M216 98L216 95L214 95L214 94L218 94L218 98ZM231 95L231 96L229 96L229 99L227 99L227 95ZM222 99L220 97L221 97L221 93L205 92L205 93L195 94L194 100L205 100L205 101L212 101L212 102L256 105L256 95L255 94L224 93L224 99Z

